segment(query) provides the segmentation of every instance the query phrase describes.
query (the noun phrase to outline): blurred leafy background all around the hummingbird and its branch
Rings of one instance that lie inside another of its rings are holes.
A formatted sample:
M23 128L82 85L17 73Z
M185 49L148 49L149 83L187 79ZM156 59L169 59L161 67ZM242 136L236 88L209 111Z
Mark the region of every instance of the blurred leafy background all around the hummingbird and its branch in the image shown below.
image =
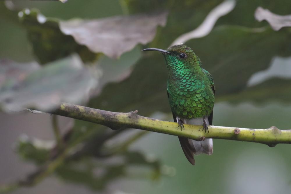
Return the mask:
M213 124L290 129L291 19L272 15L290 15L290 6L284 0L1 1L0 191L290 193L287 144L214 139L213 154L196 156L192 166L175 136L18 110L69 102L173 121L164 58L141 50L166 49L192 31L184 41L214 79Z

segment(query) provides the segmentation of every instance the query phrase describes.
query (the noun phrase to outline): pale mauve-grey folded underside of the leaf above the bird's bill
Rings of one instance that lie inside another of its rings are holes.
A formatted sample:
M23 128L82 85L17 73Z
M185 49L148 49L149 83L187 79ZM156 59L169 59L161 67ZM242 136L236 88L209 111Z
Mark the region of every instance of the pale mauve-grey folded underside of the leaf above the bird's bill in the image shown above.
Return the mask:
M117 16L94 20L61 21L60 29L72 35L80 45L95 53L118 58L138 43L146 44L155 37L157 26L165 26L167 12Z

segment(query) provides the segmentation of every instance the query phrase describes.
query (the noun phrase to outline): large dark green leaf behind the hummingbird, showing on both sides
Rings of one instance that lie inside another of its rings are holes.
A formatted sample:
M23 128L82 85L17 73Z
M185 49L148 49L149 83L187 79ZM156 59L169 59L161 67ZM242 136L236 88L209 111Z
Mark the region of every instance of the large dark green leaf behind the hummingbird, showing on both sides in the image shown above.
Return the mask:
M161 29L156 41L149 47L166 49L165 45L170 45L173 34L187 31L183 26L191 26L184 23L184 20L189 22L189 18L183 20L181 16L174 17L178 12L180 10L169 13L167 26ZM188 9L185 8L183 12L187 13ZM191 23L196 22L194 17L191 19ZM181 21L178 29L176 20ZM226 97L230 100L229 96L232 94L248 90L250 77L267 69L274 56L290 56L290 43L288 30L275 32L270 28L217 26L209 35L189 40L186 45L194 49L202 61L202 67L212 74L217 91L216 102L219 102L226 100ZM117 112L138 110L144 116L155 111L170 112L166 95L167 70L164 64L161 54L145 53L128 79L108 84L100 96L91 99L88 106ZM279 98L280 96L277 95ZM291 99L291 96L282 98Z

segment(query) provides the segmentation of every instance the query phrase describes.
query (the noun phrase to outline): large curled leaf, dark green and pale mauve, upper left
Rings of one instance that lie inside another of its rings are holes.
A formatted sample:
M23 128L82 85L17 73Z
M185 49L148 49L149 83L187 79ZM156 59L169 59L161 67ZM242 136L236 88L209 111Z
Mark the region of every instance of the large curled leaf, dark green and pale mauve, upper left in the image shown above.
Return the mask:
M137 44L150 42L155 37L157 26L165 26L167 20L166 11L71 21L46 18L36 9L25 9L18 15L42 64L72 52L77 52L84 62L95 61L97 55L94 53L120 57Z

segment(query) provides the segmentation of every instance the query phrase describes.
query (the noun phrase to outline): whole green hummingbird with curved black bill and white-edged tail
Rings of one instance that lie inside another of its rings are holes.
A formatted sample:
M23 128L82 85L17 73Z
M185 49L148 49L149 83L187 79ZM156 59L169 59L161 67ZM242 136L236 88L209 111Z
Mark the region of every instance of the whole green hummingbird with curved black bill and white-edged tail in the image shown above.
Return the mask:
M198 56L184 44L167 50L148 48L143 51L159 51L166 59L168 99L174 122L181 129L183 124L203 125L206 133L208 125L212 125L215 88L212 76L201 67ZM179 137L179 140L192 165L195 165L194 154L212 154L212 139L195 141Z

